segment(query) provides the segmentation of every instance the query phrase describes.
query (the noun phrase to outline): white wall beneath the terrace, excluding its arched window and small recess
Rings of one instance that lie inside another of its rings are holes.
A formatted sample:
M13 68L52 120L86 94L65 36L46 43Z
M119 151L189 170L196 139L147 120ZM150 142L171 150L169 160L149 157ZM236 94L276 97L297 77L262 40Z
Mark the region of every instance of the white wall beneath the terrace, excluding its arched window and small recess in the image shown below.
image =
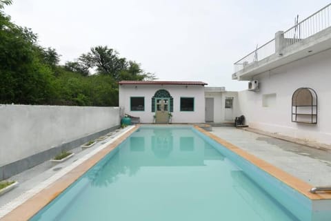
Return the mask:
M239 108L246 123L271 133L331 144L331 50L305 57L285 66L254 76L260 91L241 91ZM291 121L292 94L297 88L312 88L317 93L317 124ZM276 93L272 107L262 106L262 96Z

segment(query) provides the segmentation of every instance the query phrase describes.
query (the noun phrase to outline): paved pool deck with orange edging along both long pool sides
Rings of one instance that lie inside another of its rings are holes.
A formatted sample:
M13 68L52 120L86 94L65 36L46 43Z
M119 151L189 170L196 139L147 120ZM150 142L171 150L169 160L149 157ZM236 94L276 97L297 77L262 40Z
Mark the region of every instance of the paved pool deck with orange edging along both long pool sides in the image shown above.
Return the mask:
M38 211L59 195L66 189L66 186L77 180L90 166L112 151L133 131L134 128L128 128L128 133L123 131L123 135L116 140L100 142L85 151L77 148L74 150L76 154L71 160L58 166L51 166L49 162L45 162L12 177L12 180L19 181L19 186L0 196L0 220L27 220L30 218L36 209ZM307 189L309 186L331 185L331 151L286 142L229 126L214 126L211 132L205 132L205 134L218 142L223 142L232 151L251 158L253 162L266 166L267 169L271 168L276 173L275 176L278 174L281 179L290 180L294 184L297 182L298 189L305 191L308 197L312 199L331 198L331 194L326 194L326 196L312 194ZM102 145L103 148L101 148ZM87 155L90 155L89 159L86 157ZM79 162L84 157L86 160ZM72 164L77 164L77 167L73 167ZM61 171L62 176L55 179L54 176ZM52 180L53 182L50 182ZM40 186L43 182L46 182L44 186ZM32 197L26 199L25 195L29 194L32 194ZM22 202L26 203L18 206ZM18 207L16 208L16 206ZM12 212L6 215L6 210L12 210ZM3 218L1 219L1 217Z

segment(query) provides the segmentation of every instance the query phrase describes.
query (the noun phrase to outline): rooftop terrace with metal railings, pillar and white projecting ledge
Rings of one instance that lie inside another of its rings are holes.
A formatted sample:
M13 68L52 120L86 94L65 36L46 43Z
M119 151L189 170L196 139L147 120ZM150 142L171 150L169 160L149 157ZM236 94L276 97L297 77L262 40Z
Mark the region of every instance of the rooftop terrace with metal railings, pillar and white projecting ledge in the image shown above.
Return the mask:
M251 80L254 75L331 48L330 6L285 32L276 32L274 39L239 59L234 63L232 79Z

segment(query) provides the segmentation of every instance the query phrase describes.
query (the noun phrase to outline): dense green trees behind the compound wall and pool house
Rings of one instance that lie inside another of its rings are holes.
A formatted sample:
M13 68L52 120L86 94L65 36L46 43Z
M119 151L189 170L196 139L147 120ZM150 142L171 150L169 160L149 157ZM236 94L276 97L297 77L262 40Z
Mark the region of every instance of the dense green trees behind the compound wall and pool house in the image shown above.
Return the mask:
M32 30L3 13L11 3L0 0L0 104L118 106L118 81L156 79L108 46L59 66L57 50L39 46Z

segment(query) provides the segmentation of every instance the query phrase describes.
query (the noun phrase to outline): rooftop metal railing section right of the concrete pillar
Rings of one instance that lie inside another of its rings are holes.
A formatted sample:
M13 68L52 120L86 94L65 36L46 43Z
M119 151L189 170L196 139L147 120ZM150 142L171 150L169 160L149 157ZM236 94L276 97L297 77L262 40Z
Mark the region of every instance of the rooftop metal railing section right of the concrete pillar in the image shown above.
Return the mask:
M284 32L284 48L330 27L331 3Z

